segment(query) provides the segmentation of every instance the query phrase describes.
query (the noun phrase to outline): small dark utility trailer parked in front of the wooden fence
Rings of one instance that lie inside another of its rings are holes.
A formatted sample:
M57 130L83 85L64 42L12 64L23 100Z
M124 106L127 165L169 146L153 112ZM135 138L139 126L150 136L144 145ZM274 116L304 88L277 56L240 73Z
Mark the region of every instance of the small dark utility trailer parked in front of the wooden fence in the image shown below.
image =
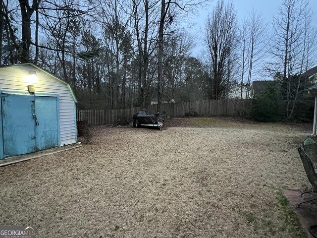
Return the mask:
M147 114L147 110L143 109L133 115L133 127L139 128L141 126L151 126L158 127L159 130L162 130L165 118L166 116L164 113Z

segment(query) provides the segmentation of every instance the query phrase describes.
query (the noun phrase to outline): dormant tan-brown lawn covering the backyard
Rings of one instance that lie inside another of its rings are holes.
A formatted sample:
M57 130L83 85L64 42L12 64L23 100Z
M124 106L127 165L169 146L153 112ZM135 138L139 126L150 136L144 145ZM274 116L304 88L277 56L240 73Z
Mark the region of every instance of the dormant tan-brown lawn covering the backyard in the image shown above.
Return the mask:
M166 125L95 127L90 145L0 168L1 224L39 238L305 237L282 191L309 186L297 152L307 126Z

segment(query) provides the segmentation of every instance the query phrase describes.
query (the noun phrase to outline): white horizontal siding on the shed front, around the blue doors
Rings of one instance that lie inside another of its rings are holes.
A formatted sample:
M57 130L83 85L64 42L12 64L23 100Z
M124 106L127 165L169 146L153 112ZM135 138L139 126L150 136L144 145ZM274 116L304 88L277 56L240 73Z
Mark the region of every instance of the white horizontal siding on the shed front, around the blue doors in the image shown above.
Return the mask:
M74 100L67 85L53 78L46 72L32 65L15 65L0 68L0 90L11 92L28 92L24 76L36 71L38 82L34 84L35 95L59 95L60 145L76 143L76 125Z

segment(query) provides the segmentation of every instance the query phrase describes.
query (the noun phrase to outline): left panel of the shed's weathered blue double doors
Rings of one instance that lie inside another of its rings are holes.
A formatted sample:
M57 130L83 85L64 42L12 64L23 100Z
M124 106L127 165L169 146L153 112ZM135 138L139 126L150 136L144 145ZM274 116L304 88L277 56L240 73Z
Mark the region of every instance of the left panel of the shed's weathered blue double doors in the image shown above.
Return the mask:
M1 96L4 157L36 151L34 97Z

